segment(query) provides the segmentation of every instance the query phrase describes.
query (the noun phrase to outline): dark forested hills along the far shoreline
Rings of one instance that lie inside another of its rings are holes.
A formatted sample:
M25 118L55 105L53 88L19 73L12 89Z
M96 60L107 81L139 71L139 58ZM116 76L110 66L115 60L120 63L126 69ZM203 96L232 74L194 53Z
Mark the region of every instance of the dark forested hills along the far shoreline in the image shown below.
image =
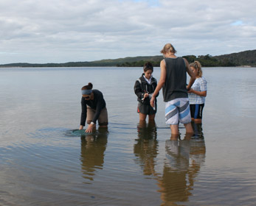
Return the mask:
M219 56L195 55L183 56L189 63L198 60L203 67L227 67L227 66L251 66L256 67L256 49L241 51L238 53L224 54ZM146 57L125 57L115 60L97 60L91 62L69 62L69 63L10 63L0 67L90 67L90 66L117 66L117 67L141 67L150 61L153 66L159 66L163 59L162 55Z

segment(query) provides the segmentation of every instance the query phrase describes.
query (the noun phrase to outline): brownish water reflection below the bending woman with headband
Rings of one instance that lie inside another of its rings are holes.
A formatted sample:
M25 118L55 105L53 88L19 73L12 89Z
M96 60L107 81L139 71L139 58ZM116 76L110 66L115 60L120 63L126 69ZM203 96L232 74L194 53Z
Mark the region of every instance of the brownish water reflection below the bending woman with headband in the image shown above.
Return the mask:
M83 177L94 180L95 171L103 168L108 129L99 128L97 135L81 136L81 165Z

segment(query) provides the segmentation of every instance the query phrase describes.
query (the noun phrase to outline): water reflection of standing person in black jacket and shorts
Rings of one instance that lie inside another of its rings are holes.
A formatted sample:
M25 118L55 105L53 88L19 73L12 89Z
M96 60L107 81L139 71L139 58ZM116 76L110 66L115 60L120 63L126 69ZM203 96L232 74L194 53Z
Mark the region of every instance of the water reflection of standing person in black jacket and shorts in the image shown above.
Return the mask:
M145 175L155 174L155 158L157 155L158 141L156 141L156 124L150 121L139 121L138 139L134 144L134 154L139 158L139 165L142 166Z

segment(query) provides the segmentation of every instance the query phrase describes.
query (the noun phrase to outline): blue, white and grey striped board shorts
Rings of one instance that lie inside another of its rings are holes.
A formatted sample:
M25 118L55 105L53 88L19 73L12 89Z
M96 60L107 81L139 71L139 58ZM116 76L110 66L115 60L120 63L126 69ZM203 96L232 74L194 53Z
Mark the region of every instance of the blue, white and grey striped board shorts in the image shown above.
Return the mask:
M165 103L166 124L188 124L191 121L188 98L173 99Z

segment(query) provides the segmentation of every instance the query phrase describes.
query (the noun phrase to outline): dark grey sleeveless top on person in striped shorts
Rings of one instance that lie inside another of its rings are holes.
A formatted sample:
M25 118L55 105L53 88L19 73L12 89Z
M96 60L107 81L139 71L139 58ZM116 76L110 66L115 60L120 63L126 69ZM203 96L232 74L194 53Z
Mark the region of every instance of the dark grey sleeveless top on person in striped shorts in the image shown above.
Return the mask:
M163 86L165 102L177 98L187 98L187 70L182 57L165 58L166 81Z

